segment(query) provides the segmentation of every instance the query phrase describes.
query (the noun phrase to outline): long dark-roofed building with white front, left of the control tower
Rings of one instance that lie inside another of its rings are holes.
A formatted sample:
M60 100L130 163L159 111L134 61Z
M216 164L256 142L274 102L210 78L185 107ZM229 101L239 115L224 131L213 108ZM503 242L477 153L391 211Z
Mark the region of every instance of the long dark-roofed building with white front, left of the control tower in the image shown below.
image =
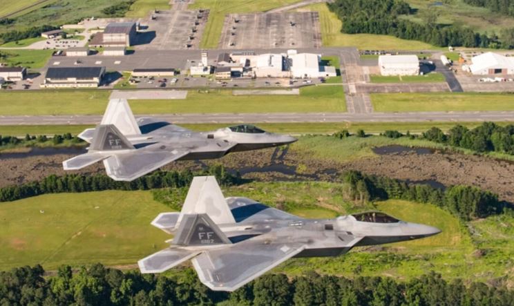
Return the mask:
M105 67L50 67L41 88L98 87Z

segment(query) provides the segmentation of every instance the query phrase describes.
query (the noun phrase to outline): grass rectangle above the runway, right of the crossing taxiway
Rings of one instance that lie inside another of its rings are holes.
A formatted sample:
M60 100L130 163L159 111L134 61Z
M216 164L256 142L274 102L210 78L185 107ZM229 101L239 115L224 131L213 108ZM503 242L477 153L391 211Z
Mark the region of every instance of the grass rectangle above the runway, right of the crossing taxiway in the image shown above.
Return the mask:
M376 93L377 112L513 111L514 95L502 93Z

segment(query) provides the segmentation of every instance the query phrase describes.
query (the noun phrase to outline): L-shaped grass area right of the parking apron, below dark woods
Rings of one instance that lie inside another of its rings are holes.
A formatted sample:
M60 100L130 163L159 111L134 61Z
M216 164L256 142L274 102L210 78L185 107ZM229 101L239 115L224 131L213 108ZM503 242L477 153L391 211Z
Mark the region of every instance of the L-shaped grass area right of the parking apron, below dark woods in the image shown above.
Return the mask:
M388 35L344 34L341 33L341 20L339 20L333 12L328 10L325 3L313 4L307 6L307 9L319 12L323 46L352 46L361 50L428 50L435 48L421 41L399 39ZM300 10L305 10L305 8L301 8Z

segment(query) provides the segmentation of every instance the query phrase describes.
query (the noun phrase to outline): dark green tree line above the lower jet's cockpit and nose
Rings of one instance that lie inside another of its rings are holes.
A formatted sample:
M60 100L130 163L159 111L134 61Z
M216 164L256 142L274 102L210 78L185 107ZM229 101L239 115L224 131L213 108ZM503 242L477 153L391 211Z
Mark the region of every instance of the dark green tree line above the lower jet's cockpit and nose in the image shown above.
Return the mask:
M359 171L344 173L342 180L352 200L399 199L430 203L464 221L503 213L504 209L511 207L511 204L499 201L495 193L471 186L456 185L439 189L428 184L408 184L392 178L365 175Z

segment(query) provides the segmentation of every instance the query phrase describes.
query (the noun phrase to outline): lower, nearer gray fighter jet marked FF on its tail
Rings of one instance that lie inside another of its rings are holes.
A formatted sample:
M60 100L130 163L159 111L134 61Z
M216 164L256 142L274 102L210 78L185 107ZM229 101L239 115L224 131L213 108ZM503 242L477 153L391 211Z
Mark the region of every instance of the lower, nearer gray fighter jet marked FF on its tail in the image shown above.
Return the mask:
M175 237L138 262L160 273L191 259L200 281L234 291L292 257L339 256L352 247L419 239L439 233L379 211L335 219L305 219L249 198L224 198L216 179L193 178L180 213L160 213L155 227Z

